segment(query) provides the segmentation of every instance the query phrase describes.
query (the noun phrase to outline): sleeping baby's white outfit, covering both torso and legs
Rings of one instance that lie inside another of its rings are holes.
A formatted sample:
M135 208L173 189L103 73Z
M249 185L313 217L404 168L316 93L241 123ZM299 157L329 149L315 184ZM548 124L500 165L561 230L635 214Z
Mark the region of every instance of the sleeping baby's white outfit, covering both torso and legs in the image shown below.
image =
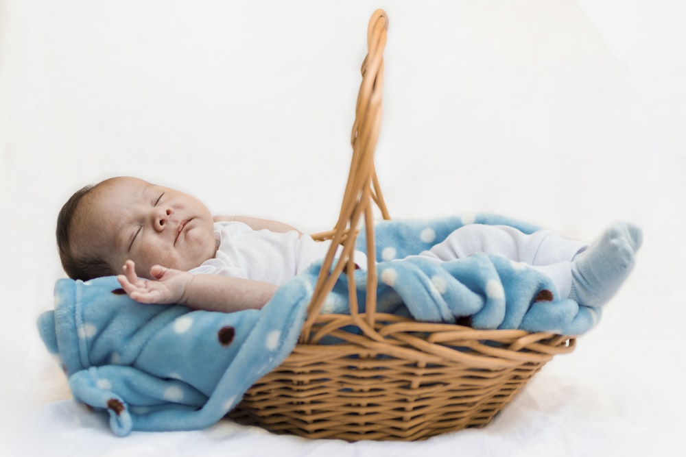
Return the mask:
M323 259L330 241L315 241L298 232L252 230L238 221L217 222L219 243L215 258L192 269L193 274L219 274L269 282L280 286ZM571 260L587 245L548 230L524 234L506 225L465 225L419 256L436 262L469 257L477 252L529 264L550 277L561 295L571 288ZM366 265L364 253L355 251L355 263Z

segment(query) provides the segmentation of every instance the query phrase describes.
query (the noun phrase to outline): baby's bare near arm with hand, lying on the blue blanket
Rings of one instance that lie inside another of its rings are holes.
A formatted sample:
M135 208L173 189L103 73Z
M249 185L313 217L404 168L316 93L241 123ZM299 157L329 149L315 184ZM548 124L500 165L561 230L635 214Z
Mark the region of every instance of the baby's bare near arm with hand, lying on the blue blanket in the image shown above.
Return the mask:
M124 274L117 280L128 295L139 303L183 304L206 311L234 312L259 309L274 295L276 286L222 275L193 275L155 265L150 270L155 280L136 275L134 262L127 260Z

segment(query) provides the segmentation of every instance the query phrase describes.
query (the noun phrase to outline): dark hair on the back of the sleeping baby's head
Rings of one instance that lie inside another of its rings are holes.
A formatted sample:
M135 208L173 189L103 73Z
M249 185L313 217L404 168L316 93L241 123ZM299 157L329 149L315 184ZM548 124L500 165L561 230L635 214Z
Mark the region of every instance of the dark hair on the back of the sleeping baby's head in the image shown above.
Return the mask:
M91 193L95 186L85 186L77 190L67 203L64 203L60 214L57 217L57 247L60 251L60 261L62 268L69 277L73 280L92 280L94 277L113 275L112 268L99 256L82 256L77 257L73 253L73 245L71 242L73 238L70 237L73 232L74 223L78 223L75 219L78 217L78 209L84 203L84 197Z

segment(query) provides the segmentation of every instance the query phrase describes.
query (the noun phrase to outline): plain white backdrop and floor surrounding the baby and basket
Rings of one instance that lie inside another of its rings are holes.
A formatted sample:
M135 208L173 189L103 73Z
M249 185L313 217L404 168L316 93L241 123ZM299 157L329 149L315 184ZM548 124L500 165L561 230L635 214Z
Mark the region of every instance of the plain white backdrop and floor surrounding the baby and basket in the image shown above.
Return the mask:
M62 203L84 184L136 175L217 214L331 228L376 8L390 17L377 169L392 216L498 212L584 240L626 219L645 234L630 281L578 349L483 430L348 444L227 421L115 438L65 400L35 330L64 276ZM685 19L676 0L0 1L0 449L678 454Z

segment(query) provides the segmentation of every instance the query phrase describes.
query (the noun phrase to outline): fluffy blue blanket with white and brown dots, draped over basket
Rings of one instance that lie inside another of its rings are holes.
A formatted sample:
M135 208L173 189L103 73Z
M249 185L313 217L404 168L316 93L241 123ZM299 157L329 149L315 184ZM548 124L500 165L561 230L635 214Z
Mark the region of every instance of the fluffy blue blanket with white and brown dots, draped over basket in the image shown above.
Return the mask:
M595 325L600 309L558 297L548 277L504 258L383 260L388 249L396 258L418 254L464 223L512 225L526 233L538 229L489 214L377 223L380 312L568 335ZM362 234L357 246L364 250ZM56 309L40 316L38 329L49 351L58 355L75 399L107 412L115 434L198 430L222 419L292 351L320 265L283 284L262 310L230 314L138 304L115 277L58 280ZM363 304L366 272L355 275ZM322 312L347 311L346 281L342 275Z

